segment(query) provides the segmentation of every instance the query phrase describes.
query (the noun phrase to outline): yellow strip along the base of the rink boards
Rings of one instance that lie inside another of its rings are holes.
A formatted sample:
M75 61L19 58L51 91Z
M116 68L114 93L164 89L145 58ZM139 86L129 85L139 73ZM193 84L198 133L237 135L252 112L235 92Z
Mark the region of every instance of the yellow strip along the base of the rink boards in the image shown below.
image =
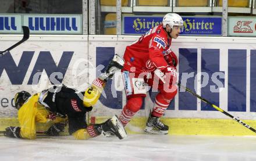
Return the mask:
M102 123L110 117L96 117L95 121L96 123ZM161 120L169 126L169 135L256 135L256 133L232 119L162 118ZM133 118L126 126L127 133L143 134L146 121L146 117ZM256 120L243 120L243 122L256 128ZM8 126L19 126L19 123L15 118L1 118L0 130L3 131Z

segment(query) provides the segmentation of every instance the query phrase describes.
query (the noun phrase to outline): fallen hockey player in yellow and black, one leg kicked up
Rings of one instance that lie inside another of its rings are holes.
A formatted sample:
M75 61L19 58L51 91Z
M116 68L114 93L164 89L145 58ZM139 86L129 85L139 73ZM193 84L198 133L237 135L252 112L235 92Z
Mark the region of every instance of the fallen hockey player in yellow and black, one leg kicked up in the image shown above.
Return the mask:
M18 109L20 127L7 127L4 135L13 138L35 139L38 133L37 124L44 124L44 134L59 135L65 128L65 121L59 116L66 117L69 124L69 134L76 139L88 139L101 133L116 135L119 139L126 137L117 116L113 116L101 124L87 126L86 112L92 109L97 101L106 81L113 76L116 70L122 69L123 59L118 55L109 63L106 71L94 80L91 87L85 92L77 93L65 85L54 86L40 93L30 95L21 91L15 95L15 107ZM51 126L49 126L51 124Z

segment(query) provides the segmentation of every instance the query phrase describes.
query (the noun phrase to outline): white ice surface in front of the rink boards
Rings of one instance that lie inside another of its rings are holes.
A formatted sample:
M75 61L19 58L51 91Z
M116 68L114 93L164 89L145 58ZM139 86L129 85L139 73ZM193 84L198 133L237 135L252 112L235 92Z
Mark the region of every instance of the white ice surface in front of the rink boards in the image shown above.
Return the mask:
M79 141L0 137L0 160L256 160L256 137L129 135Z

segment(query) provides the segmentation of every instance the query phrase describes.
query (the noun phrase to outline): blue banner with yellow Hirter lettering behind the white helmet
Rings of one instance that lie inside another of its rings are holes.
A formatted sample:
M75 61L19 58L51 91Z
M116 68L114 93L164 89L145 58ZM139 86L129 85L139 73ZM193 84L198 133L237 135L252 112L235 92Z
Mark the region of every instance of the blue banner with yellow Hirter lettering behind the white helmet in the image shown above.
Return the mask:
M162 23L162 16L123 16L123 34L141 35ZM182 35L222 35L222 17L183 16Z

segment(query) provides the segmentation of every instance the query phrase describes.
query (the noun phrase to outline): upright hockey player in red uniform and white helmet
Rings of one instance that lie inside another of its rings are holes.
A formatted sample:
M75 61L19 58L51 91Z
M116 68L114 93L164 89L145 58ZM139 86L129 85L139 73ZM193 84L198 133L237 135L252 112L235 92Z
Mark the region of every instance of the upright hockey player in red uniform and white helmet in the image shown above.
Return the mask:
M182 17L168 13L162 24L151 28L133 44L126 47L122 69L127 103L119 116L123 126L140 110L146 96L145 83L159 90L145 131L150 134L168 134L169 127L159 121L170 101L177 94L175 53L170 49L172 38L183 31Z

